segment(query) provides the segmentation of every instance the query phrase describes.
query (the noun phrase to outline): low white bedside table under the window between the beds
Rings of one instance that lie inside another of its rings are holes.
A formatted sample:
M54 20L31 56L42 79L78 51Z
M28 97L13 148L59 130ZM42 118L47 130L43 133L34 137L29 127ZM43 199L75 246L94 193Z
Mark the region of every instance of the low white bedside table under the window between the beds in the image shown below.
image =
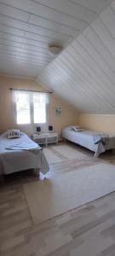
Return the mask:
M35 143L45 144L46 147L49 143L58 143L58 133L57 132L41 132L33 133L32 139Z

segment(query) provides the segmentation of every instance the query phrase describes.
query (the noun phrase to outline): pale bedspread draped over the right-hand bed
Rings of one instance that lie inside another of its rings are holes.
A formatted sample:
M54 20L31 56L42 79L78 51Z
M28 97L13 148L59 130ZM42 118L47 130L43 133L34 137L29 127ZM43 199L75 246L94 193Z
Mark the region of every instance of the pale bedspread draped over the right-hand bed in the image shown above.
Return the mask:
M99 154L105 152L106 149L115 148L115 134L109 134L108 142L103 145L102 143L94 143L95 133L97 133L97 131L71 131L69 127L66 127L62 130L62 137L73 143L78 143L85 148L89 148L95 152L95 156L99 156Z

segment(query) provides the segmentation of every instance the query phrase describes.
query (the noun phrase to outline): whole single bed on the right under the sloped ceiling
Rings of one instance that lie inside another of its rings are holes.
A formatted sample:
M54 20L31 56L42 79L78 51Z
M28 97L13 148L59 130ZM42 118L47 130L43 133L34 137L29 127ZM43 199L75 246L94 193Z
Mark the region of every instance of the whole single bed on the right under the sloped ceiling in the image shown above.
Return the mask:
M112 133L103 134L89 130L73 131L72 126L67 126L62 130L62 137L94 151L95 157L108 149L115 148L115 134Z

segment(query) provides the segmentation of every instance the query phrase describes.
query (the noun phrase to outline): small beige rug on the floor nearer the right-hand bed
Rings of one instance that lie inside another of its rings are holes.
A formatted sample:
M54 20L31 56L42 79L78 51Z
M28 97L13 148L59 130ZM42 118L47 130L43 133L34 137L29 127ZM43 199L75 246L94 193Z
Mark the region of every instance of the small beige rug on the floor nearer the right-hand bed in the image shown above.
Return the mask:
M82 152L79 152L78 149L71 148L68 145L59 145L59 146L56 145L53 148L58 153L62 154L63 156L65 156L69 160L79 159L80 157L85 156L85 154L83 154Z

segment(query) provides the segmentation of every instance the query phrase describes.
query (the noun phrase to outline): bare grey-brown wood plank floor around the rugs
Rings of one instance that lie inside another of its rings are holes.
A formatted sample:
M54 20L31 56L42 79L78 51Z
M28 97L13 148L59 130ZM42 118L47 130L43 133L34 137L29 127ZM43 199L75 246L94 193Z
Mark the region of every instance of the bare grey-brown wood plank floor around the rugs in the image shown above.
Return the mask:
M83 150L95 162L93 155ZM115 165L115 155L109 152L96 161ZM72 168L72 161L70 166L66 161L52 166L51 172L58 173L58 166L63 172L63 168ZM1 184L1 256L115 256L115 193L34 225L23 190L23 183L30 181L36 182L37 177L29 171L12 175Z

